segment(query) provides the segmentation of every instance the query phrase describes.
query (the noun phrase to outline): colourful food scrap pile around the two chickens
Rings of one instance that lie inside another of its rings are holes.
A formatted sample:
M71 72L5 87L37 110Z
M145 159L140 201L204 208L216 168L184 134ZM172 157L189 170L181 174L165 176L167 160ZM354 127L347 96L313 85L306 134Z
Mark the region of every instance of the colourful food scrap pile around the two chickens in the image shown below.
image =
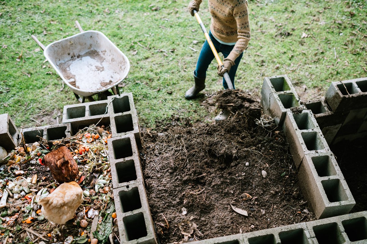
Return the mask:
M22 142L0 162L1 243L108 243L118 241L107 139L109 127L86 127L75 136L34 143ZM58 187L42 158L66 146L78 168L84 201L73 219L54 225L44 218L39 201ZM93 224L92 224L93 223ZM95 228L94 226L97 226Z

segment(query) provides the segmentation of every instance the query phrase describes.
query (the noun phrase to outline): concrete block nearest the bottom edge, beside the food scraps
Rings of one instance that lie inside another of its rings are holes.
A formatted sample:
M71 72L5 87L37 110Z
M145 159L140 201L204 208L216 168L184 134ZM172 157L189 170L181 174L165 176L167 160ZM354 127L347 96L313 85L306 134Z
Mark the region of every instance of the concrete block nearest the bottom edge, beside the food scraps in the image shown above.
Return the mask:
M156 244L155 229L142 183L113 189L121 243Z

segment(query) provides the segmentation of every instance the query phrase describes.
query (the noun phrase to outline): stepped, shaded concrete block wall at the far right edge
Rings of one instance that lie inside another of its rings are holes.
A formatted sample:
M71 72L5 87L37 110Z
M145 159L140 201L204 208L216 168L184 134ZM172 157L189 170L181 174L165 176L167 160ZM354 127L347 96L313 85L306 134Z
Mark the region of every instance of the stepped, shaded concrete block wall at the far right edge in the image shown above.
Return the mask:
M367 78L333 82L325 100L305 105L315 114L329 145L367 134Z

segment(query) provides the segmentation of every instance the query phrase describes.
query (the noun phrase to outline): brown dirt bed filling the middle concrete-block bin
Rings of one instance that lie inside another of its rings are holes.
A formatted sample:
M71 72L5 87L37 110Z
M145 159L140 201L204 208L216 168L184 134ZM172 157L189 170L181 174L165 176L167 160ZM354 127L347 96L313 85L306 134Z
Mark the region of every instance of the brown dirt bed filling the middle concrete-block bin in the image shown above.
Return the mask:
M261 117L259 125L245 116L216 124L188 121L172 118L142 133L146 192L162 243L315 219L284 136L270 119Z

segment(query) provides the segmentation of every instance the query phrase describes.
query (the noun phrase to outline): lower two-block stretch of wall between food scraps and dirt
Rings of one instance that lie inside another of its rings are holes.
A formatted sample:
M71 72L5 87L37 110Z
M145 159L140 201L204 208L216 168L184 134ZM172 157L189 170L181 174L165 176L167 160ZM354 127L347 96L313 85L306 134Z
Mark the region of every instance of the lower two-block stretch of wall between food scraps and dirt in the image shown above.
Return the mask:
M120 242L157 243L135 135L108 139L108 149Z

